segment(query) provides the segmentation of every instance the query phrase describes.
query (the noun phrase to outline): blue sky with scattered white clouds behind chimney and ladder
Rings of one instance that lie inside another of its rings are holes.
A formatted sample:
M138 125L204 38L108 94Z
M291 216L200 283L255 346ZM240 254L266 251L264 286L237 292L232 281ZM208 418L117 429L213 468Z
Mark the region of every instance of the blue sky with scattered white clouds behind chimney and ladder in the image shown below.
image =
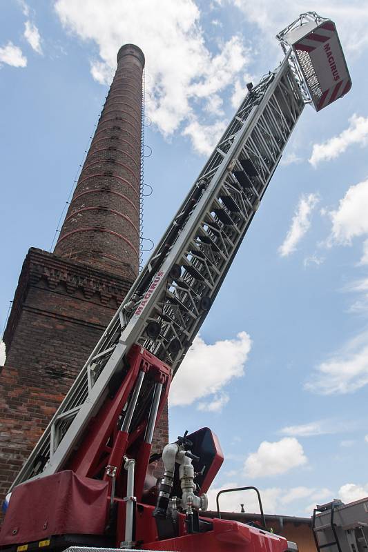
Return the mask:
M310 515L316 502L367 495L367 0L1 8L1 327L28 248L50 249L119 46L146 55L144 235L157 243L246 82L282 59L276 32L310 9L336 22L353 88L320 113L304 109L175 378L170 424L174 438L200 426L220 437L211 499L253 484L267 512ZM248 495L224 507L241 502L254 509Z

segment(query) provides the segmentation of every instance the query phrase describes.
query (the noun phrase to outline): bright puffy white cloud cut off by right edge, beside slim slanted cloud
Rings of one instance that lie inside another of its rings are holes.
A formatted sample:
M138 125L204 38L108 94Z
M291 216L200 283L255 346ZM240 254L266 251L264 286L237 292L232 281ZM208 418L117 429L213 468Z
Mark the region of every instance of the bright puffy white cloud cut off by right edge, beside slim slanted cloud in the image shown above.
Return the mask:
M350 186L338 209L329 213L331 242L350 245L354 237L368 234L368 179Z

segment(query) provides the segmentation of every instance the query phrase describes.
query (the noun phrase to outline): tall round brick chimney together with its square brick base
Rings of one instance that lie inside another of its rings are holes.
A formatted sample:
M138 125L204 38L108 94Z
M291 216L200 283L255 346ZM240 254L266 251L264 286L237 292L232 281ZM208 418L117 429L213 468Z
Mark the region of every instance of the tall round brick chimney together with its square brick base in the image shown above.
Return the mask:
M142 50L120 48L55 251L23 262L0 366L0 501L138 273L143 68ZM166 408L156 449L167 440Z

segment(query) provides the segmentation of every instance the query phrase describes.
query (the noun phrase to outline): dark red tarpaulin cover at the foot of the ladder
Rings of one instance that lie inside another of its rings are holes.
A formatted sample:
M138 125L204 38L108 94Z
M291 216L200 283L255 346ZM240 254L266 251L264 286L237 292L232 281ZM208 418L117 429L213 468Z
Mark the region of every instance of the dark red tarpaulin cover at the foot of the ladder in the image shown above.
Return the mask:
M51 535L101 535L107 517L108 483L60 471L15 487L0 532L0 544Z

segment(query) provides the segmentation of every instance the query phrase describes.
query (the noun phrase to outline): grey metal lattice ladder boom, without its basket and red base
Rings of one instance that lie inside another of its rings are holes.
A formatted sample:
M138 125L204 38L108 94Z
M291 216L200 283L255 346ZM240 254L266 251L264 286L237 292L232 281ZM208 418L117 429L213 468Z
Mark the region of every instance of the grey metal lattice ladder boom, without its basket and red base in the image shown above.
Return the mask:
M242 101L13 485L63 468L134 343L175 374L220 290L303 108L287 56Z

